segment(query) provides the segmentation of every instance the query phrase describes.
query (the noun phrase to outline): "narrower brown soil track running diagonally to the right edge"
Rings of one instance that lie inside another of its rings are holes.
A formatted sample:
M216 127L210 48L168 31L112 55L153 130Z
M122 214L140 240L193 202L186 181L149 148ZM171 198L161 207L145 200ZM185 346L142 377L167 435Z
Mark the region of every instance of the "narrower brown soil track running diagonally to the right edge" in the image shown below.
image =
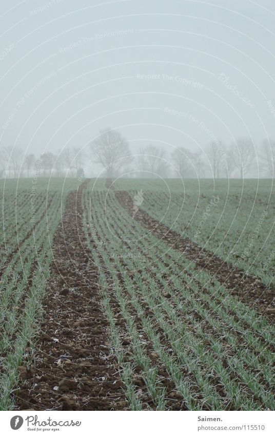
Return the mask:
M126 191L116 191L115 197L125 210L132 215L133 200ZM178 250L195 263L199 269L205 269L217 277L230 293L244 304L266 315L272 322L275 313L275 290L268 288L257 277L249 276L244 271L199 247L189 238L182 238L178 233L151 218L139 209L135 220L167 243L168 247Z

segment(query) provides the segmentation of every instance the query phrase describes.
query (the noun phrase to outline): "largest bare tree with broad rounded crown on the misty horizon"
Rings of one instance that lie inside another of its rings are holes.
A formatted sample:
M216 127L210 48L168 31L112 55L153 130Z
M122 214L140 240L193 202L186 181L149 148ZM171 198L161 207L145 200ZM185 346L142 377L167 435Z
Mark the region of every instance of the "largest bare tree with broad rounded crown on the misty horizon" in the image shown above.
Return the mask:
M128 142L117 130L102 130L91 142L93 162L105 168L107 178L113 178L132 160Z

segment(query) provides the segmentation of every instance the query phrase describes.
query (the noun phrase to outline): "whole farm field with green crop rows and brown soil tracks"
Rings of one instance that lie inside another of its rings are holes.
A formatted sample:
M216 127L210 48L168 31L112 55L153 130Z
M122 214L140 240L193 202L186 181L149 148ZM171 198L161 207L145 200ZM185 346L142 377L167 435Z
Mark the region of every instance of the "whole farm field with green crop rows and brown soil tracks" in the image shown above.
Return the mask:
M0 409L274 410L272 181L229 182L2 182Z

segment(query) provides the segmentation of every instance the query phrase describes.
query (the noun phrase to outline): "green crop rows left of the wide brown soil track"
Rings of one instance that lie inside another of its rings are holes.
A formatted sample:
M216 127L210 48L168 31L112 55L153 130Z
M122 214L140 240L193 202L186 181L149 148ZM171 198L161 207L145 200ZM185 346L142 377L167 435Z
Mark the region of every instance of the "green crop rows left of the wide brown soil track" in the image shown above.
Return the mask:
M69 192L62 196L61 192L47 192L46 187L37 199L34 222L28 221L28 202L17 208L24 228L9 239L14 246L7 253L11 257L4 262L0 282L0 410L13 408L18 366L32 354L32 340L39 329L41 302L50 274L51 243ZM29 192L22 192L23 198L28 195ZM9 200L12 202L12 198Z

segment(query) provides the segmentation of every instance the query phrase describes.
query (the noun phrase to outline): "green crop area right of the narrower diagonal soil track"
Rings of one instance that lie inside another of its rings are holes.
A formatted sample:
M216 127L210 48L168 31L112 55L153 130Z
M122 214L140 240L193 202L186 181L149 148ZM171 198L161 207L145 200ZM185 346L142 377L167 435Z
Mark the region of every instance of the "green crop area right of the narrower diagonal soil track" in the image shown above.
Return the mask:
M274 285L275 255L269 243L275 232L272 203L268 198L255 201L249 196L238 202L230 193L222 195L214 194L219 202L211 206L212 195L192 198L171 193L170 197L146 191L141 208L179 235Z

